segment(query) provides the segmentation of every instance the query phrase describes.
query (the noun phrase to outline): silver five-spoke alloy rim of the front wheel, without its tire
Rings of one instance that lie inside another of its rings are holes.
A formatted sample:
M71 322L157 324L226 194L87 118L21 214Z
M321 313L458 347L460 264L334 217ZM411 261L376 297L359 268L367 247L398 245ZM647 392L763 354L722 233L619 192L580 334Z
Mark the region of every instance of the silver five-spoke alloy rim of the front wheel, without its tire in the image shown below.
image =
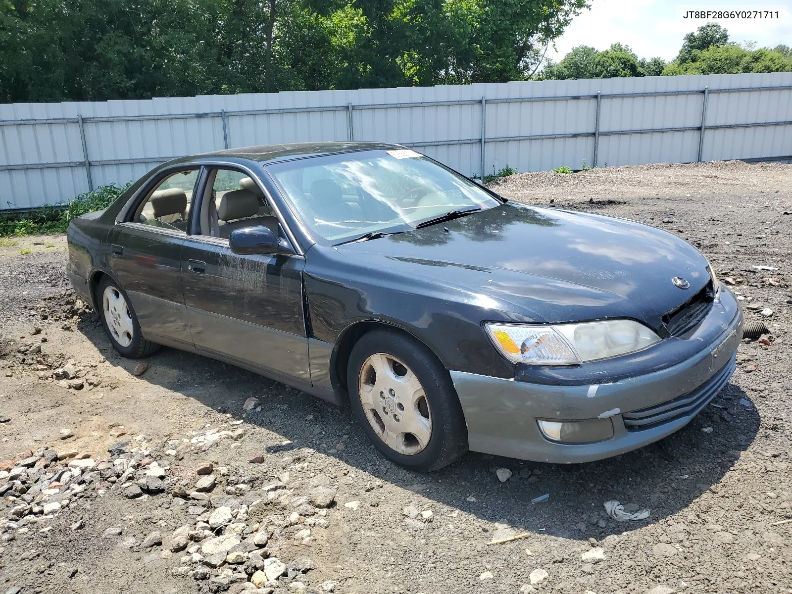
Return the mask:
M379 439L400 454L414 455L432 437L432 414L424 387L402 361L375 353L360 367L360 404Z

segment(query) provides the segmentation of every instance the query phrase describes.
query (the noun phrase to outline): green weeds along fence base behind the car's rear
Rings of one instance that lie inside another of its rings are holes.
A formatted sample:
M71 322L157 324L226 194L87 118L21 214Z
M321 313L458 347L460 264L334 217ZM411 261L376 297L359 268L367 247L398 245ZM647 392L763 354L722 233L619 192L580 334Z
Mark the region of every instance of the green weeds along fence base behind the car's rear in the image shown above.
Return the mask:
M0 215L0 237L66 233L71 219L108 208L131 183L120 187L115 184L103 185L93 192L80 194L66 208L49 204L25 213Z

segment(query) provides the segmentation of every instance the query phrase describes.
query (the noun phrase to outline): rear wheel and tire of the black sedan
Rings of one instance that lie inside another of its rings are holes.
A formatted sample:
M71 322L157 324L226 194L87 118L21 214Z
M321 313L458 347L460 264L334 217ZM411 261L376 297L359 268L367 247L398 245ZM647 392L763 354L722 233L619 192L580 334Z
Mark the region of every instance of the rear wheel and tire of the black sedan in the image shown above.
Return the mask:
M105 276L97 287L97 314L105 327L105 334L112 347L121 356L139 359L155 352L159 345L147 341L140 331L138 317L124 289L116 281Z

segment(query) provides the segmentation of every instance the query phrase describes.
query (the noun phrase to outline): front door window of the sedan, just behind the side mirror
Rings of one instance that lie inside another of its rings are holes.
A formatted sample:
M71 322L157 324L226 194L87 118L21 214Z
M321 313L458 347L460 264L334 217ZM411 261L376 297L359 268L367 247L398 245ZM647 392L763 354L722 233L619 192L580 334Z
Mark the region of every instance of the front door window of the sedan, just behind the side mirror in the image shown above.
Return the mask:
M235 229L260 225L269 227L276 236L279 234L278 219L269 208L264 192L246 173L215 169L209 181L211 196L204 196L208 208L201 209L201 234L227 239Z

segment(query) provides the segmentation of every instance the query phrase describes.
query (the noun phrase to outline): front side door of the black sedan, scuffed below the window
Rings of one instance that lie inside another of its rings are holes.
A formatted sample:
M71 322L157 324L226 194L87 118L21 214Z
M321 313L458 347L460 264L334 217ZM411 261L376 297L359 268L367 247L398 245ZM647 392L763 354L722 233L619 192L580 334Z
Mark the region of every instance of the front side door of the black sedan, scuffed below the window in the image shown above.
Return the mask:
M246 221L272 225L263 192L256 189L244 173L219 169L208 175L202 233L188 235L181 248L192 342L199 351L310 386L303 257L240 256L230 251L223 229L245 227Z

